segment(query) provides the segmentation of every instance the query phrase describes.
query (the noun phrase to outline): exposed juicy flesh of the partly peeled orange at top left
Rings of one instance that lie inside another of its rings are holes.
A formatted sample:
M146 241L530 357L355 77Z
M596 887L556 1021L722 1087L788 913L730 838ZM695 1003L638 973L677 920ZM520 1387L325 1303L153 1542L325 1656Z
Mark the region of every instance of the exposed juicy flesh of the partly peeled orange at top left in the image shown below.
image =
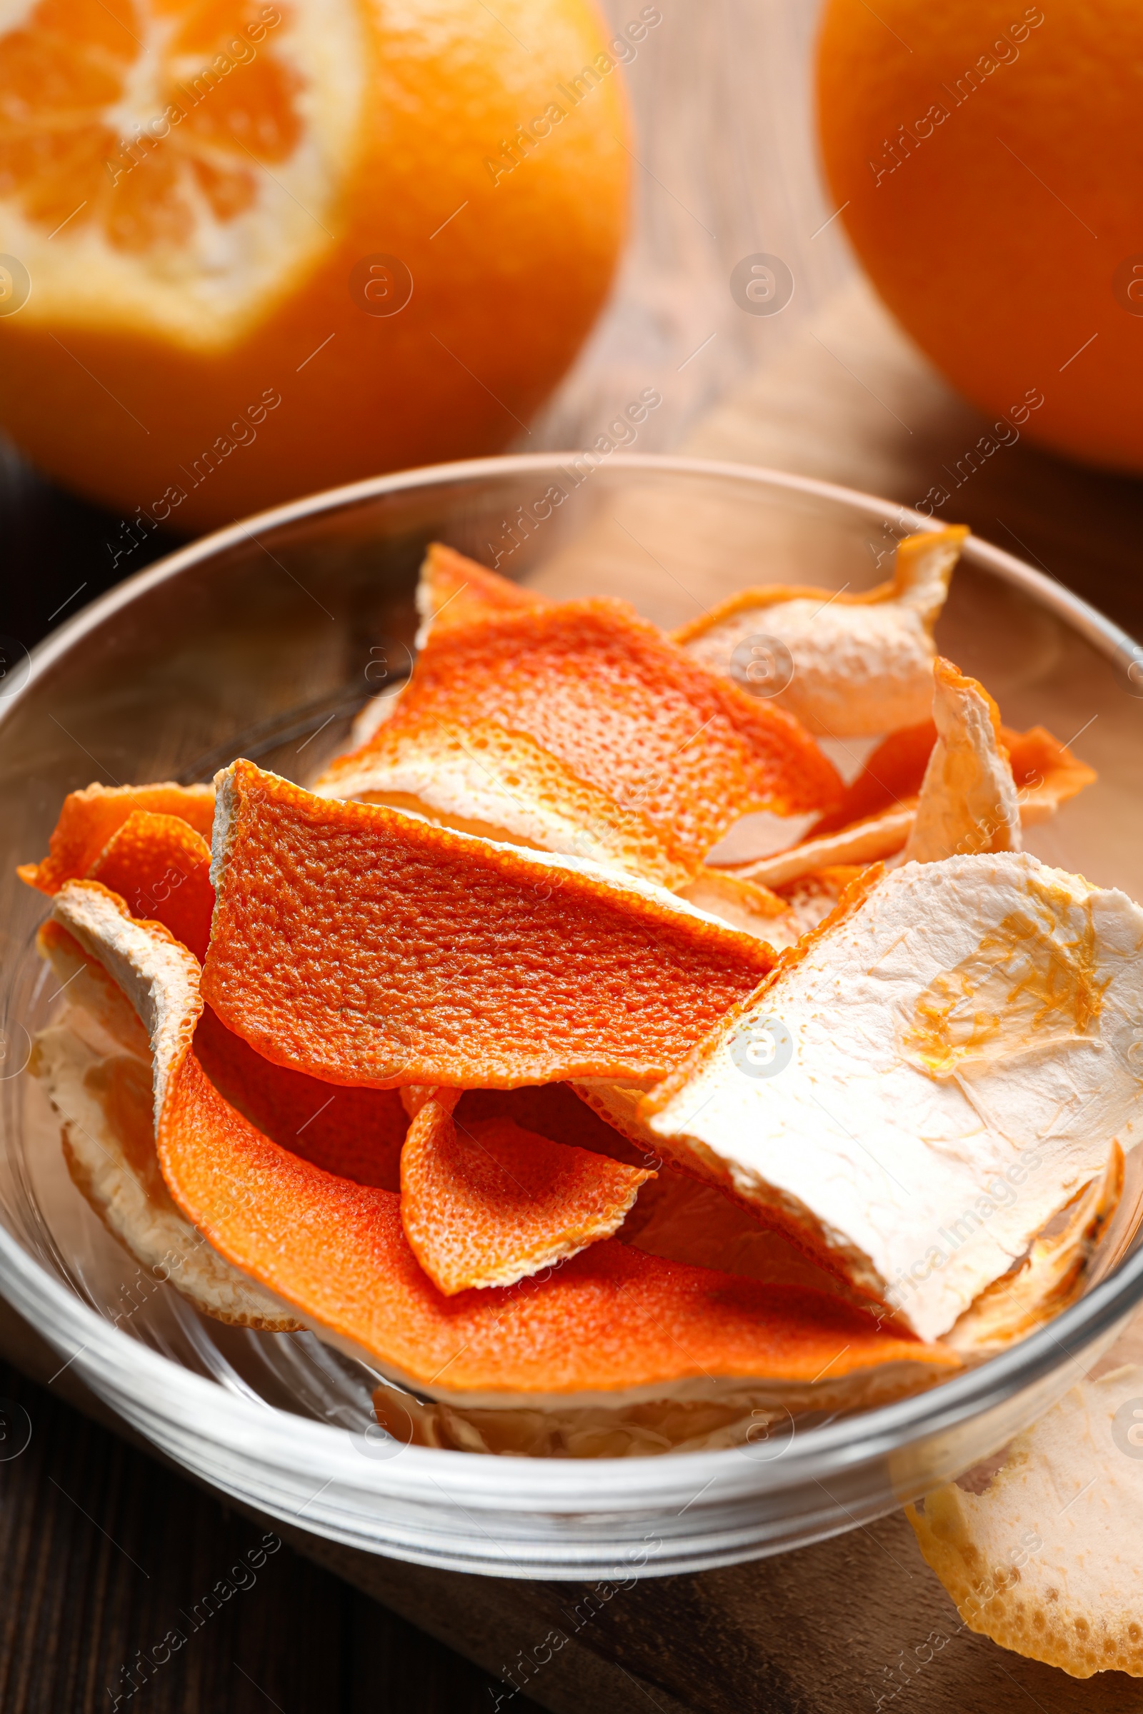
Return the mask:
M250 0L39 0L0 36L0 182L24 216L48 231L70 216L113 249L142 254L185 243L204 214L226 223L248 207L260 163L286 159L302 137L300 82L274 41L255 57L242 39L238 58L228 57L259 12ZM161 142L115 129L151 53L159 72L149 111L168 123ZM194 79L219 55L233 75L214 74L218 87L199 106Z

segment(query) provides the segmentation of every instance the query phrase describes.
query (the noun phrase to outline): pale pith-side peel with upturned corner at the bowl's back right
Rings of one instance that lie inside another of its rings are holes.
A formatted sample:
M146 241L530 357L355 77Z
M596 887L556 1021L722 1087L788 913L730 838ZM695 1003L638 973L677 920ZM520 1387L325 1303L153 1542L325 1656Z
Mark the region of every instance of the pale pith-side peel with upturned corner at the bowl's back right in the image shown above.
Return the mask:
M968 530L905 536L893 579L850 595L845 590L769 584L742 590L675 632L696 660L735 675L744 650L769 646L788 656L788 679L775 699L809 732L859 737L924 720L932 699L932 629ZM735 650L739 655L735 655ZM785 674L783 674L785 677Z

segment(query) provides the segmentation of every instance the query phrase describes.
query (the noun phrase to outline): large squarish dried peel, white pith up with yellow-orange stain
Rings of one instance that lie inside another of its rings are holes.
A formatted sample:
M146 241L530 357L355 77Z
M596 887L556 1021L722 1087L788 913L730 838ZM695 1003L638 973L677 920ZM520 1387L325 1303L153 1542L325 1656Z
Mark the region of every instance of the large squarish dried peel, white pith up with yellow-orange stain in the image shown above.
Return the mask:
M1066 900L1062 920L1044 890ZM1016 994L984 1052L943 1075L915 1063L922 992L978 958L987 936L1016 984L1021 920L1040 922L1052 970L1066 970L1090 926L1105 987L1088 1034L1059 1015L1021 1015ZM1143 1135L1143 1085L1128 1061L1141 951L1143 910L1124 893L1026 854L907 864L701 1051L646 1128L697 1171L792 1215L857 1286L937 1339L1104 1172L1112 1142L1126 1154ZM775 1076L747 1076L730 1054L751 1016L778 1018L792 1037Z

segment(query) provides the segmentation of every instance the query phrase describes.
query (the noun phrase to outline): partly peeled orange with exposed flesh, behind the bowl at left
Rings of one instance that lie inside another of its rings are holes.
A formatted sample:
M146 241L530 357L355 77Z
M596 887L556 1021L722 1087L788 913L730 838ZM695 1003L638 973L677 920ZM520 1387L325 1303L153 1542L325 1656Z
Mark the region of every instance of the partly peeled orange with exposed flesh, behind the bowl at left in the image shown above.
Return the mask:
M0 34L0 423L142 528L497 451L607 295L619 67L660 21L24 0Z

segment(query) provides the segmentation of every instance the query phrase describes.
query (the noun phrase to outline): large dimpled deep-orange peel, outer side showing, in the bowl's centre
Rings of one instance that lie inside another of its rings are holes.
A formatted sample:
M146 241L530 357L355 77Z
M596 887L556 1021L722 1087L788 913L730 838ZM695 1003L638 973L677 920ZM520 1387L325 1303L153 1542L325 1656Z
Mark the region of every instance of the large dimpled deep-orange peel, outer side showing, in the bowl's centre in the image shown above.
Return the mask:
M554 859L247 761L219 790L204 998L267 1059L332 1083L656 1076L775 963L761 941Z

